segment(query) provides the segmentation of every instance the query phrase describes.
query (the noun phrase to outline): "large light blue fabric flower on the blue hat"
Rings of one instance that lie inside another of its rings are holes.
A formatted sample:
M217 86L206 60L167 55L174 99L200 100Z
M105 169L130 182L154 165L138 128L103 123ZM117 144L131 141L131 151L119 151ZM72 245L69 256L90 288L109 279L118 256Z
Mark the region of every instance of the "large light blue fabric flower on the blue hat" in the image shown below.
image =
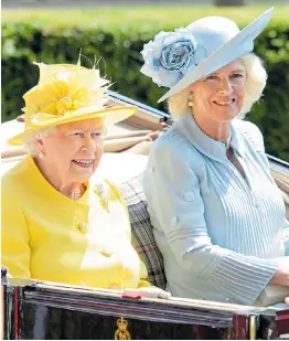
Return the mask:
M206 56L190 30L181 28L174 32L160 32L153 41L144 44L141 54L144 65L140 72L159 86L172 87ZM196 55L199 54L199 55Z

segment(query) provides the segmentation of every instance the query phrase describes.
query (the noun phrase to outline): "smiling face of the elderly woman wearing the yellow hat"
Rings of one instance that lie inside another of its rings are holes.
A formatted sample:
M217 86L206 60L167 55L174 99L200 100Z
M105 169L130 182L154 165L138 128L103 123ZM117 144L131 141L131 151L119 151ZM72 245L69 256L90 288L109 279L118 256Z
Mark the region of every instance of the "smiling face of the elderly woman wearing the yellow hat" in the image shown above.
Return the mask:
M99 118L57 126L36 141L43 152L45 173L61 183L87 181L98 167L104 152L104 121Z

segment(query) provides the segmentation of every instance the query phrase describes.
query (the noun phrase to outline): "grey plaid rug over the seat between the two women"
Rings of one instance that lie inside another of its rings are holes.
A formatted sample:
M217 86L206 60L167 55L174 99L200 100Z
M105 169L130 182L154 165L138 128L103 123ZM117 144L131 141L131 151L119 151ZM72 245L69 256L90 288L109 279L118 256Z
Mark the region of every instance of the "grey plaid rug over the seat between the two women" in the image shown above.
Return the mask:
M165 289L162 255L156 244L142 189L142 173L118 185L128 206L132 245L148 270L148 281Z

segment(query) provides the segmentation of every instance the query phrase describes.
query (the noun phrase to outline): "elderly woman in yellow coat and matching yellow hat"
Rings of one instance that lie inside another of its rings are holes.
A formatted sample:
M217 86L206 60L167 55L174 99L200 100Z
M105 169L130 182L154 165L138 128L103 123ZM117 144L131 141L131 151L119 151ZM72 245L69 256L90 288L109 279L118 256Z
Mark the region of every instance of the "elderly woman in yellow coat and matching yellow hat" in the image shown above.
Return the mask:
M2 265L17 278L167 298L144 280L120 193L92 178L105 125L136 107L106 107L108 83L96 68L36 65L39 84L23 96L25 130L9 140L29 154L2 178Z

